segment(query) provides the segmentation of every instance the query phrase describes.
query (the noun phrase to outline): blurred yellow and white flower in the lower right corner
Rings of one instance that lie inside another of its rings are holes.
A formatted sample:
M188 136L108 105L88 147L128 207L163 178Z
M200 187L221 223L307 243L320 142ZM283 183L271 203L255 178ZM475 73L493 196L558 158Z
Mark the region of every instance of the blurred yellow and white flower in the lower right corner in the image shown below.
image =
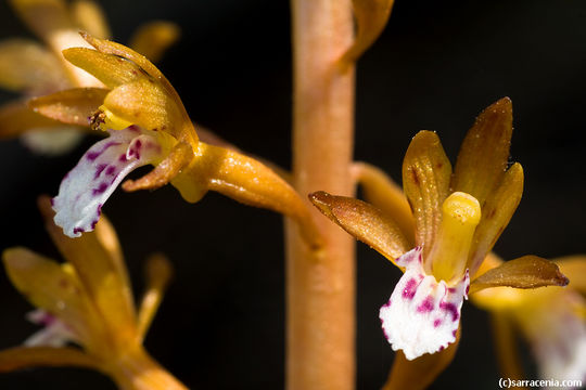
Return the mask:
M566 288L495 287L472 298L473 303L492 313L497 356L507 377L526 378L514 342L514 334L520 333L531 346L543 379L560 384L586 380L586 256L553 262L569 277ZM502 260L492 256L480 272L501 263Z

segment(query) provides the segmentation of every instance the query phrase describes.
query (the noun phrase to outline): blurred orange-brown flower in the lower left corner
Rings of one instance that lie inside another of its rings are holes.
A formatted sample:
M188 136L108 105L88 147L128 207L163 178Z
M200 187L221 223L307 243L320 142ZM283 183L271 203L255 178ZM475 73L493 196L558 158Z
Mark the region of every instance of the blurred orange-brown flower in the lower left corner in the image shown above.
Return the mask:
M120 389L186 389L143 349L142 340L171 275L162 255L146 263L148 289L138 310L110 222L78 239L52 221L50 199L39 199L47 230L67 260L26 248L4 250L13 285L38 309L28 317L43 329L25 346L0 351L0 372L34 366L81 366L109 375Z

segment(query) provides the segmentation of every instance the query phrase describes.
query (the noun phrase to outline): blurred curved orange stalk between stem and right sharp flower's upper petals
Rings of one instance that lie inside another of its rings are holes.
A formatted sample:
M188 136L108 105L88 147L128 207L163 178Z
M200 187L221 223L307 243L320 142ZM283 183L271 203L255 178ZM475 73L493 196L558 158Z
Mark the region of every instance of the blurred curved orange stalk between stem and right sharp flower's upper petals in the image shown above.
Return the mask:
M400 186L370 164L355 162L352 169L362 186L365 199L391 217L412 247L415 245L413 213Z

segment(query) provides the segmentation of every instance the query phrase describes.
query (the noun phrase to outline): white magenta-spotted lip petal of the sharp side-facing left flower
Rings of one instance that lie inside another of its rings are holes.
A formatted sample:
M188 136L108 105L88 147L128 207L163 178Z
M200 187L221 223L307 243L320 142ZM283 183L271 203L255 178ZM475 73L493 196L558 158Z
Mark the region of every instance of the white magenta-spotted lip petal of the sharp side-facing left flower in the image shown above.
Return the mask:
M69 237L90 232L98 223L102 205L124 178L160 157L156 133L129 127L111 130L65 176L53 198L55 224Z

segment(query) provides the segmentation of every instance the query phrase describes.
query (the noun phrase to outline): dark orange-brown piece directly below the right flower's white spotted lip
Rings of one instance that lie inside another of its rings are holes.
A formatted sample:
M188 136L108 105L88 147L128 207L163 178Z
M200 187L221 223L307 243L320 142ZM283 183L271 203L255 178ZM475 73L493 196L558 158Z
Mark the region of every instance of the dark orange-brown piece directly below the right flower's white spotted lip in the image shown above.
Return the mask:
M403 351L397 351L391 374L382 390L419 390L425 389L451 363L458 343L460 342L460 328L456 341L445 350L434 354L424 354L416 360L407 360Z

